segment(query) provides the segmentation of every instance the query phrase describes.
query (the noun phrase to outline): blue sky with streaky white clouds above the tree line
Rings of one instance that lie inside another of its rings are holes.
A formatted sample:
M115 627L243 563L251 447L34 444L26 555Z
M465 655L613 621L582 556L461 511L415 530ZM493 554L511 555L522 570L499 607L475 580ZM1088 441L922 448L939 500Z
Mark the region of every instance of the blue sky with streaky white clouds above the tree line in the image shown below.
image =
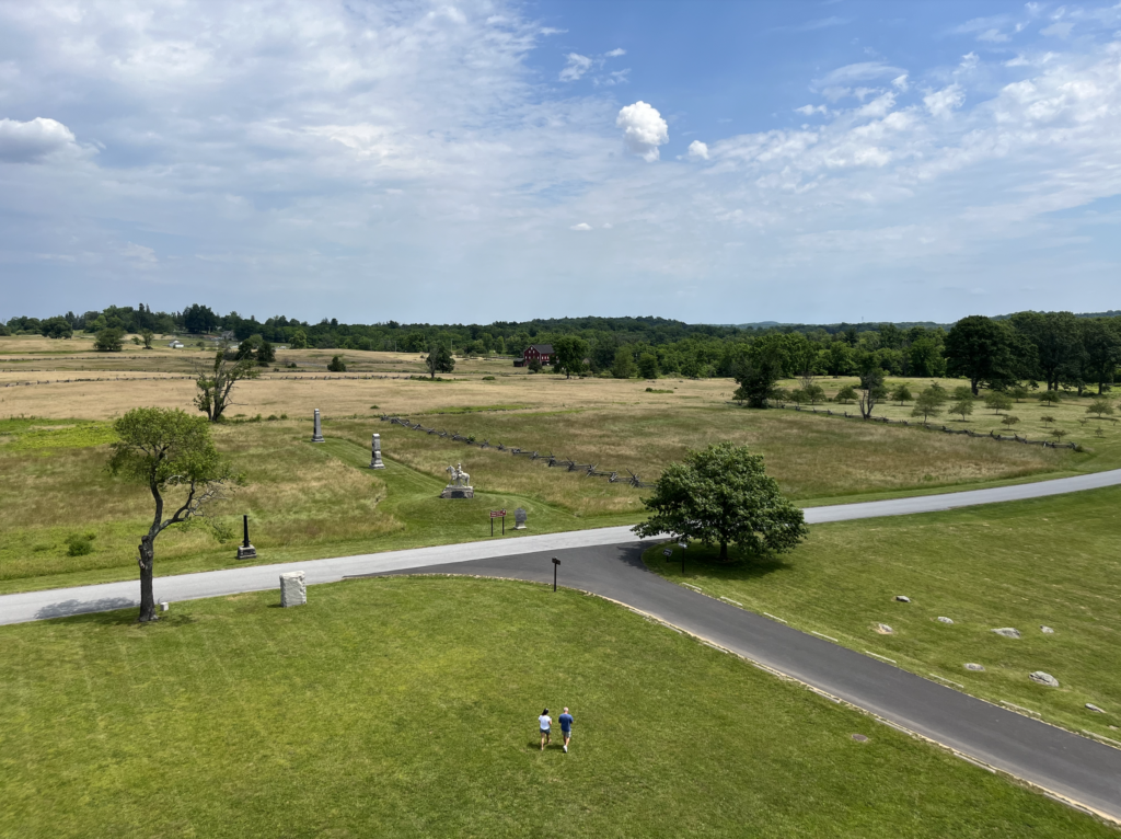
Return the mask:
M0 319L1118 299L1121 6L0 4Z

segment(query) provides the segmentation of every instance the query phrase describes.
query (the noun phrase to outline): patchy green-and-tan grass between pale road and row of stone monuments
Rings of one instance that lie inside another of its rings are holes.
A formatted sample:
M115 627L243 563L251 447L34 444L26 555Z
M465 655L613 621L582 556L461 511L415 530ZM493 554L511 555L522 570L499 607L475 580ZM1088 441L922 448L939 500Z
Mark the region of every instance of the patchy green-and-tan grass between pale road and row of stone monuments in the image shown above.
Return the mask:
M0 434L0 592L136 577L136 545L150 523L151 497L106 472L108 424L3 421ZM244 472L245 486L214 505L216 529L194 522L160 535L158 575L244 565L234 559L243 513L258 550L249 561L254 564L487 540L489 510L503 507L511 517L517 507L527 510L526 535L633 520L581 518L538 498L482 486L472 500L441 499L446 474L424 474L389 459L386 469L372 471L368 445L337 435L313 444L309 423L217 426L214 434ZM504 538L520 535L512 524ZM86 534L94 537L91 552L70 555L67 538Z

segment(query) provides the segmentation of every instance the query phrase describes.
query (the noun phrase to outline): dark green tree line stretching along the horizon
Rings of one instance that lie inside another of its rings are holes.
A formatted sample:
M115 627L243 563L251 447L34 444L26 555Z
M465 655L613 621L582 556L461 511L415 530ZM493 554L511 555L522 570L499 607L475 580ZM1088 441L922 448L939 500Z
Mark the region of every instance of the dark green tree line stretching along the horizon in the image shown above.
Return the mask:
M109 306L46 320L12 317L2 333L66 339L84 331L102 336L102 349L119 349L120 338L229 334L272 359L274 348L383 350L430 356L438 348L460 356L520 356L534 343L550 343L555 367L566 375L591 372L628 378L660 375L731 377L749 404L766 402L780 378L859 376L870 399L882 398L883 376L956 376L980 388L1002 389L1034 381L1047 390L1095 387L1115 379L1121 363L1121 313L1019 312L999 317L972 315L946 328L892 323L788 325L687 324L663 317L566 317L481 324L346 324L335 319L309 323L282 315L261 322L237 312L220 315L193 304L182 312L150 306ZM115 335L112 331L115 331ZM141 340L141 339L137 339ZM262 356L262 357L263 357ZM267 362L266 362L267 363Z

